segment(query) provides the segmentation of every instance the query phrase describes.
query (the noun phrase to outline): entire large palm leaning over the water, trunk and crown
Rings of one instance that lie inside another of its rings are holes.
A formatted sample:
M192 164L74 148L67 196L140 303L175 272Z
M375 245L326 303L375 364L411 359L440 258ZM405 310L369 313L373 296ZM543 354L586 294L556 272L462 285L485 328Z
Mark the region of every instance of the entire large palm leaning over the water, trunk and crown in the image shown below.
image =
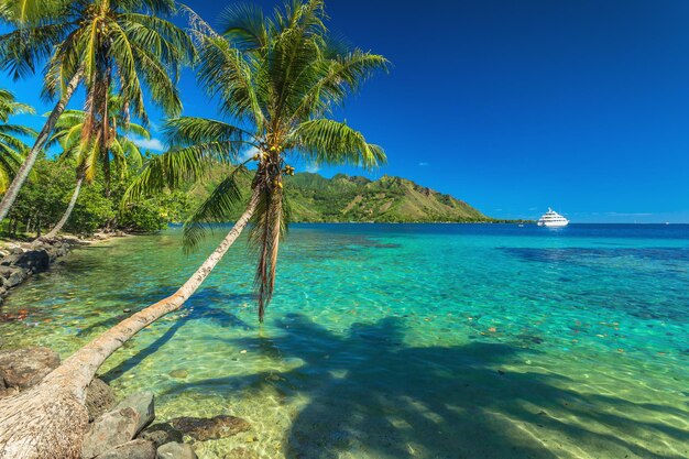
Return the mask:
M287 156L316 163L375 166L383 150L342 122L326 118L373 72L382 56L346 50L328 40L322 0L293 1L274 18L252 8L226 15L225 36L200 36L199 80L218 97L220 110L238 124L198 118L171 120L168 140L177 149L152 160L130 189L178 185L251 145L259 151L251 197L218 248L173 295L151 305L78 350L30 391L0 400L0 457L76 457L86 427L86 386L102 362L128 339L186 302L210 274L253 217L252 240L259 249L260 308L270 300L283 211L283 175ZM198 19L196 19L198 23ZM193 242L204 221L220 219L240 200L238 167L196 212L187 229ZM255 214L255 216L254 216ZM3 415L4 414L4 415Z

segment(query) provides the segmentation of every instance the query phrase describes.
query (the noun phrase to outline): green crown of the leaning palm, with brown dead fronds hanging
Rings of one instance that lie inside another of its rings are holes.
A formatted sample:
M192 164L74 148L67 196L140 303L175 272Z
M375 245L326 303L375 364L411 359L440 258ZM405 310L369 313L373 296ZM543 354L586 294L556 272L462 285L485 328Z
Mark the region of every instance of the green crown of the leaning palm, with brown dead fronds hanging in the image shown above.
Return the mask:
M135 199L146 190L198 178L217 162L237 164L242 149L254 149L252 189L261 199L250 240L259 253L261 318L272 296L277 247L286 228L283 179L293 173L286 161L368 168L385 162L382 147L330 117L363 81L387 69L389 62L333 40L325 20L322 0L293 0L270 18L255 7L230 7L221 33L197 21L198 80L218 100L222 120L168 120L164 132L173 149L149 163L127 196ZM245 163L187 221L187 248L204 236L205 223L227 221L241 198L237 176L247 172Z

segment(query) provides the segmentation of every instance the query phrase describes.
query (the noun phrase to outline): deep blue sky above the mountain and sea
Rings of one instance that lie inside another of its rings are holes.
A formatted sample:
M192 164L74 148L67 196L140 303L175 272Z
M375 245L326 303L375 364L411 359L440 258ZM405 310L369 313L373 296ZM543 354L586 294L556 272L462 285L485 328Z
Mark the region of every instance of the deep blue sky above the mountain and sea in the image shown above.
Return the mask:
M188 4L215 24L227 3ZM576 222L689 222L689 2L327 9L331 30L394 64L341 113L387 152L387 166L362 175L404 176L500 218L551 206ZM40 79L2 75L0 86L47 111ZM192 72L181 88L185 114L216 116ZM337 172L361 174L320 171Z

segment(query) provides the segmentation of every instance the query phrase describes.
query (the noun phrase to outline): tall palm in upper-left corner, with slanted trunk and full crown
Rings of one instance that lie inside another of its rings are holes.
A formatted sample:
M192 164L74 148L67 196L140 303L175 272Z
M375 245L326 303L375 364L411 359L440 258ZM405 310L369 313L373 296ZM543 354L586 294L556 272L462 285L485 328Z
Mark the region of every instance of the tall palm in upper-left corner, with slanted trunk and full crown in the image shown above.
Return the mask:
M0 36L0 68L18 79L47 61L44 96L61 96L0 203L0 221L79 84L88 113L84 138L92 139L108 117L111 87L123 112L132 110L144 124L143 87L167 114L182 112L176 81L195 51L190 37L163 19L176 11L174 0L0 0L0 21L14 29Z

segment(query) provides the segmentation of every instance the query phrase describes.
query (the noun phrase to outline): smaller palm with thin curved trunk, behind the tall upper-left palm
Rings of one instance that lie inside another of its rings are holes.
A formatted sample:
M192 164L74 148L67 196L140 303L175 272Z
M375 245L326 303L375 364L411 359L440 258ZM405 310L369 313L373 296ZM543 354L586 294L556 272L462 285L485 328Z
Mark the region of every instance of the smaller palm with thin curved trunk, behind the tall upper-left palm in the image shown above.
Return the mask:
M76 162L77 183L65 214L43 239L53 239L59 233L74 210L83 183L92 183L99 166L105 177L106 196L109 197L111 163L114 164L120 176L124 176L130 165L140 168L143 164L143 155L131 136L150 139L151 133L144 127L124 119L121 97L110 95L109 98L108 118L99 120L99 124L95 127L94 139L81 136L84 123L88 119L86 111L66 110L55 125L55 133L48 145L51 143L62 145L63 152L58 161ZM100 125L102 123L105 125Z

